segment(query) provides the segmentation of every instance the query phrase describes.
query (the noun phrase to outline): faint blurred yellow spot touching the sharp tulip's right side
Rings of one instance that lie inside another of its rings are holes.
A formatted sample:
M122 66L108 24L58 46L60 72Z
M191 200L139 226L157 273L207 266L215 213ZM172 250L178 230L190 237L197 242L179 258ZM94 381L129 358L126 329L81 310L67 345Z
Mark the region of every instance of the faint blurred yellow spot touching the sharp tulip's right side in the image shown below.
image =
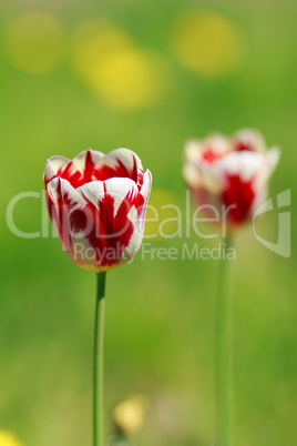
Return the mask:
M145 217L144 236L150 240L174 239L182 233L183 215L172 193L153 189Z

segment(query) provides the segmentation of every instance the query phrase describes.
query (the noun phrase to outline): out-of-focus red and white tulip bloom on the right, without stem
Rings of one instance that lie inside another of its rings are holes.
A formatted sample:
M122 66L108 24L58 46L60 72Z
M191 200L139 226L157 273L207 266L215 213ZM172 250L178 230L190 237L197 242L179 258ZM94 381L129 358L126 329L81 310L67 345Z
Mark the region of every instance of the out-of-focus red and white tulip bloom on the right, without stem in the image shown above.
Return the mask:
M183 175L204 214L214 217L214 206L232 229L248 221L265 201L278 158L279 150L267 151L258 131L242 130L231 138L211 134L186 144Z

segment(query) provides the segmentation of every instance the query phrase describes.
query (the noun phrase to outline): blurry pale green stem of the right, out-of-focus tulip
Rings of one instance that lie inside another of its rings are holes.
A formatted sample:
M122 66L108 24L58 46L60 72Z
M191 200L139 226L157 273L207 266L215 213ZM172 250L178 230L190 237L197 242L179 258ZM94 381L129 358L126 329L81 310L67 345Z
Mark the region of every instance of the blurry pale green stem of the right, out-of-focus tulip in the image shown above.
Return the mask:
M225 253L232 246L225 239ZM217 295L217 446L232 446L233 430L233 305L229 292L228 259L221 259Z

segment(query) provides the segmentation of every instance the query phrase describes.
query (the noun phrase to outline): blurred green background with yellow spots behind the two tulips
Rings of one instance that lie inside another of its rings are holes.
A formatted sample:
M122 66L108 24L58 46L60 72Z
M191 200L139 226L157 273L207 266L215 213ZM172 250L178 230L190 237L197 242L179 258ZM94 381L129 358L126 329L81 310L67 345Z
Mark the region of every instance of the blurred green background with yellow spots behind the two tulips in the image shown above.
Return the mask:
M53 154L127 146L152 171L151 204L164 219L164 204L185 210L184 141L245 126L281 148L270 196L291 189L294 197L296 13L293 0L1 0L0 430L25 446L91 444L95 276L57 239L13 235L9 201L43 190ZM39 231L41 206L21 201L16 224ZM294 234L294 203L291 219ZM259 231L276 240L277 214ZM194 234L150 240L185 241L215 244ZM250 226L235 243L235 444L294 446L296 251L267 251ZM143 394L150 408L136 445L213 444L217 267L139 254L109 274L107 432L116 403Z

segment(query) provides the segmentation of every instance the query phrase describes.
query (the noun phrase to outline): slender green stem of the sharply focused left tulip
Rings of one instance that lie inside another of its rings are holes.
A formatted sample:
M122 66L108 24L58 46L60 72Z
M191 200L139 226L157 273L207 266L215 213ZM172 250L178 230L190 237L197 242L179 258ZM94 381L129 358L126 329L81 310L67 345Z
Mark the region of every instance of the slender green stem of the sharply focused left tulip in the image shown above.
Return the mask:
M103 338L104 338L104 296L106 273L96 274L96 305L94 330L93 368L93 445L103 446Z

